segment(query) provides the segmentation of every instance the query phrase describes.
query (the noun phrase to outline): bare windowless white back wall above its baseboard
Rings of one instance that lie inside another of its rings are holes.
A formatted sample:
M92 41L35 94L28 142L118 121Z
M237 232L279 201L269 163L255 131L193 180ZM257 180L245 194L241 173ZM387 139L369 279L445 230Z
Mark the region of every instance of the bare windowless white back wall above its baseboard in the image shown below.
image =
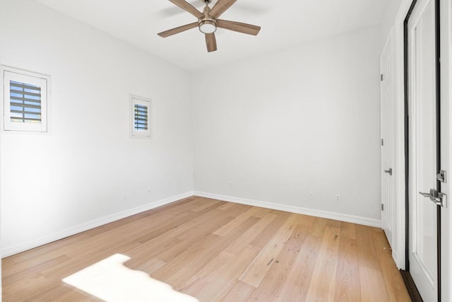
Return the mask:
M380 35L195 74L195 190L379 220Z

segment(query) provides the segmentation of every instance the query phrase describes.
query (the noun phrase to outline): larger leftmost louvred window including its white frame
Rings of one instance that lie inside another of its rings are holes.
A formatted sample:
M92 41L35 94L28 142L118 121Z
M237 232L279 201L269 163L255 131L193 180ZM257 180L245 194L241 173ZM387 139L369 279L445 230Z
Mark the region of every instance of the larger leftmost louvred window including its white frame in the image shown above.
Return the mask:
M49 76L3 67L4 130L47 132Z

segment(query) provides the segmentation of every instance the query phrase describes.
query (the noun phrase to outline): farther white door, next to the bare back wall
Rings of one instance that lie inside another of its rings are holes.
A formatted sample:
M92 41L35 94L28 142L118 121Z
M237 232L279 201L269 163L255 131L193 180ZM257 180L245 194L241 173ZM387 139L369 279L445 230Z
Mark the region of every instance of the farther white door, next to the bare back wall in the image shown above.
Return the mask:
M393 85L393 32L383 49L380 58L380 110L381 110L381 224L388 242L393 247L393 219L395 209L395 181L393 177L396 108L394 106Z

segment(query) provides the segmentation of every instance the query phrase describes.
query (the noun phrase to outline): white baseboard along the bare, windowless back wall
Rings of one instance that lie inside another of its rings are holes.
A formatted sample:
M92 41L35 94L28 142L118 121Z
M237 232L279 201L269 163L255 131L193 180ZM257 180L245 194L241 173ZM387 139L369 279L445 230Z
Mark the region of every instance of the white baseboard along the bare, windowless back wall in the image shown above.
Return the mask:
M237 204L246 204L246 205L254 206L254 207L275 209L275 210L279 210L279 211L288 211L291 213L304 214L304 215L309 215L309 216L316 216L316 217L321 217L321 218L326 218L326 219L333 219L333 220L338 220L338 221L362 224L364 226L374 226L376 228L381 228L381 220L379 220L379 219L371 219L371 218L366 218L366 217L361 217L361 216L340 214L340 213L335 213L335 212L331 212L331 211L322 211L322 210L317 210L317 209L294 207L294 206L289 206L289 205L285 205L285 204L261 202L261 201L253 200L253 199L245 199L245 198L232 197L232 196L213 194L213 193L207 193L207 192L195 191L194 195L198 196L198 197L218 199L218 200L222 200L224 202L234 202Z

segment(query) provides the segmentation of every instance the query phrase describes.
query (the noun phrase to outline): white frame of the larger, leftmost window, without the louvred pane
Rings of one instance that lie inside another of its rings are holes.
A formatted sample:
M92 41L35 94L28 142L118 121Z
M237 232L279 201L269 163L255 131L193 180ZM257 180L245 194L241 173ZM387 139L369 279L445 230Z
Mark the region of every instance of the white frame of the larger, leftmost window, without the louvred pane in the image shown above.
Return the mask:
M0 65L0 74L3 85L1 93L3 95L1 129L3 132L49 132L49 104L50 104L50 76L39 74L37 72L17 69L11 66ZM11 122L11 100L10 100L10 81L29 83L41 87L41 123L20 123Z

